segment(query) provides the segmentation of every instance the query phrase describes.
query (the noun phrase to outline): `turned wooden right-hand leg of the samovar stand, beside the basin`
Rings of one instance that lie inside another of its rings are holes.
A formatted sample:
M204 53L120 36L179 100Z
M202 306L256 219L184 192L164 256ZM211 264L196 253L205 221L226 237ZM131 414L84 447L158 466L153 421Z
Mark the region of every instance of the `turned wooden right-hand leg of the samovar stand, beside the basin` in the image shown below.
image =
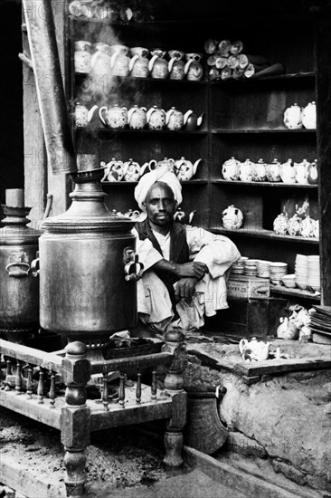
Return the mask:
M162 351L175 355L165 376L165 390L171 395L173 402L171 418L166 421L164 463L170 467L178 467L183 464L183 428L186 423L187 402L183 388L183 372L187 363L183 332L180 330L167 332Z

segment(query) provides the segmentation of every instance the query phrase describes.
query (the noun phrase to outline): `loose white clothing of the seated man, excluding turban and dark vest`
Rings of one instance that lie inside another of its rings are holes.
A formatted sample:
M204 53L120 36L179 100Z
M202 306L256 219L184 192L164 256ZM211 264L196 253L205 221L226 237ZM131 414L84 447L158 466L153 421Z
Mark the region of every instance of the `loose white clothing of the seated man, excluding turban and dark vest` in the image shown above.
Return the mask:
M156 277L153 279L148 270L164 256L160 254L149 239L138 239L137 254L139 261L144 264L143 278L137 283L137 311L144 313L145 323L153 321L157 329L157 322L162 322L159 331L163 333L165 318L174 316L170 299L165 297L165 285ZM203 314L213 316L216 311L228 308L226 295L226 277L232 263L237 261L241 254L235 244L223 235L213 235L211 232L196 226L186 226L186 242L189 247L191 261L200 261L208 266L209 273L196 284L194 299L191 303L178 302L176 310L180 316L178 323L184 330L199 329L203 326ZM155 275L156 276L156 275ZM149 315L149 317L148 317ZM169 321L170 321L169 320Z

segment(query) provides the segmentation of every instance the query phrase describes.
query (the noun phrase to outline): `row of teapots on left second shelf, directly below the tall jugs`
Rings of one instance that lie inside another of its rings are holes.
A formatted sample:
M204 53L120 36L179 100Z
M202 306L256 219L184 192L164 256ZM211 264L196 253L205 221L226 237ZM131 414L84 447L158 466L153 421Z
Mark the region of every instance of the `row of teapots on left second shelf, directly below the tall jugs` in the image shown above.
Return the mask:
M98 113L97 113L98 110ZM181 112L172 107L170 110L158 108L156 105L147 110L146 107L134 105L132 108L94 105L90 110L80 103L75 107L76 127L87 127L89 124L98 126L95 117L99 116L99 121L106 128L124 129L170 129L170 130L194 130L198 129L203 122L203 114L197 116L193 110Z

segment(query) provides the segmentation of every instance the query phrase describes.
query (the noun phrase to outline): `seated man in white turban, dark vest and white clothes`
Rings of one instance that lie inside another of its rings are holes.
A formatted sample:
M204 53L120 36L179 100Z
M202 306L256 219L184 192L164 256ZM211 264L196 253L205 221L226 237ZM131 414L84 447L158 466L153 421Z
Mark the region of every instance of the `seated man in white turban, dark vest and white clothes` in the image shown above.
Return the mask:
M225 276L241 254L230 239L174 222L182 186L166 167L140 178L137 204L146 219L137 223L137 254L144 264L137 283L140 321L157 334L175 326L203 326L203 314L228 308Z

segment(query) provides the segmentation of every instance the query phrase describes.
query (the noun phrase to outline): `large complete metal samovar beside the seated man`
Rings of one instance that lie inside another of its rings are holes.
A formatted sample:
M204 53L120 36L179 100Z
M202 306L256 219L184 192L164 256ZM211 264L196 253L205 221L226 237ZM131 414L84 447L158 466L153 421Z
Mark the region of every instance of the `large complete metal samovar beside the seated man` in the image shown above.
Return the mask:
M80 163L90 158L81 155ZM137 323L134 222L105 206L103 174L92 168L72 176L71 207L43 220L39 240L41 325L90 349Z

